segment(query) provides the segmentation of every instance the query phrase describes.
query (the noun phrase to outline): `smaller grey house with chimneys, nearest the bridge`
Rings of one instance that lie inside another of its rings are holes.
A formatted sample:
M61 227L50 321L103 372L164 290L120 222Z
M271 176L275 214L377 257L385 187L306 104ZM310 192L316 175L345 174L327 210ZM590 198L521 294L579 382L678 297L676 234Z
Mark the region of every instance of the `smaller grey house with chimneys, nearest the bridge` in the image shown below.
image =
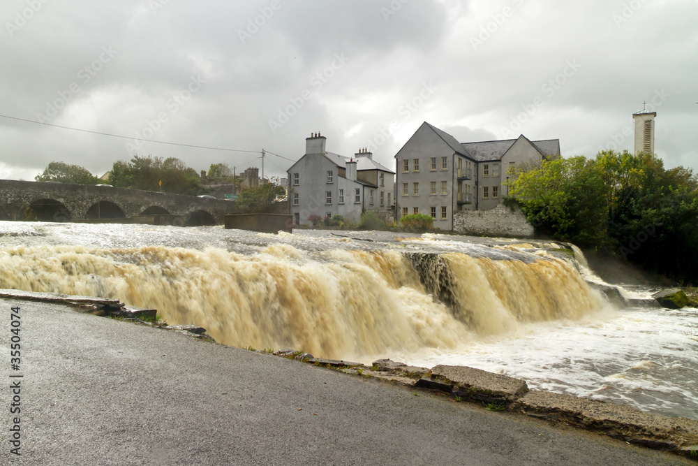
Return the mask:
M327 152L320 133L306 138L306 153L288 169L290 214L296 225L341 215L358 222L373 210L392 217L395 173L373 160L371 152L352 157Z

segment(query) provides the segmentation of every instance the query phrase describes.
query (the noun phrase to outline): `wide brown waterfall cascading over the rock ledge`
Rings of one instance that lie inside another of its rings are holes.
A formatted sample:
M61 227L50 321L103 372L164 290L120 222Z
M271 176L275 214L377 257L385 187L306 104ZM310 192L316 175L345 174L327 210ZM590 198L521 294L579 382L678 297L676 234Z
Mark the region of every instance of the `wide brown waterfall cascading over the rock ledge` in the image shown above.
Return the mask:
M184 247L15 246L0 249L0 288L117 298L168 323L203 326L236 347L356 358L447 351L523 323L578 319L603 306L572 265L461 252L255 254Z

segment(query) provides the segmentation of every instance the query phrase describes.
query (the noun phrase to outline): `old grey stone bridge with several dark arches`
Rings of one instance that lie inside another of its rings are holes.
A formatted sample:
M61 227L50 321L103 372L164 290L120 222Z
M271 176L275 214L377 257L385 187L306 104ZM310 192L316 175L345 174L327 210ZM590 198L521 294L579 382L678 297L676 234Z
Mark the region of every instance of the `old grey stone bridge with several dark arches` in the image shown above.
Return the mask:
M0 180L0 220L89 221L170 215L172 224L223 224L235 203L138 189ZM117 221L117 220L114 220Z

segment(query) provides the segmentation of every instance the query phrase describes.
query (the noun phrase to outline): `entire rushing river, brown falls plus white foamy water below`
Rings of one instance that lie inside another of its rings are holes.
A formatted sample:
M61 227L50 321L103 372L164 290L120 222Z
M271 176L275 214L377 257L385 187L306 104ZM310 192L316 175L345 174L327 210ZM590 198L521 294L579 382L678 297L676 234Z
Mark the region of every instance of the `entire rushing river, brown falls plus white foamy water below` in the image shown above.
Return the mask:
M156 307L237 347L469 365L698 418L695 310L614 310L586 285L599 280L583 261L552 255L559 245L342 234L353 239L0 222L0 288Z

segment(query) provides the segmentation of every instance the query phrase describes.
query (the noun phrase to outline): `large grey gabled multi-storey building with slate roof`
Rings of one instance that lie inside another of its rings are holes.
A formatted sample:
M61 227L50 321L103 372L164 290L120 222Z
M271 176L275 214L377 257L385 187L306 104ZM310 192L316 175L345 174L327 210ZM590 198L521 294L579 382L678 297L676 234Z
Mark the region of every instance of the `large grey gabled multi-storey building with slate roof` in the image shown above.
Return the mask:
M507 195L517 166L560 156L558 139L459 143L424 122L395 155L396 218L426 214L434 226L453 229L455 212L489 210Z

